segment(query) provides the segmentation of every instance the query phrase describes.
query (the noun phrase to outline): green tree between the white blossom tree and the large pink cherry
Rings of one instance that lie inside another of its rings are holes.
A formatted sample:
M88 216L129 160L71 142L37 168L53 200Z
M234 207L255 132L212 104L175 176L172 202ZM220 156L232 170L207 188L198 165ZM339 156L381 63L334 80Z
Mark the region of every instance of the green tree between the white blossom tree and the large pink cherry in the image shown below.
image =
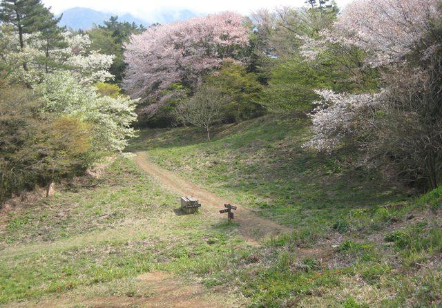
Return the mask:
M109 71L115 76L116 83L122 81L126 69L123 57L124 44L128 42L131 35L143 30L142 25L137 26L135 23L120 22L117 16L113 16L108 21L104 21L104 26L96 26L88 31L88 35L92 40L90 47L93 50L100 50L106 55L115 55Z

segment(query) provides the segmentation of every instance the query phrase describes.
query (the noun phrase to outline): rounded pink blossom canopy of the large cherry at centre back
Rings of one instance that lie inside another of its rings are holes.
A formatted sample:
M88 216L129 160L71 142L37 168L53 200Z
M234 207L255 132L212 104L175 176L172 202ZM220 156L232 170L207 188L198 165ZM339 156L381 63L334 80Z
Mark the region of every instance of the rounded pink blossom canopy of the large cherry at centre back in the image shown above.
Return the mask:
M176 82L195 88L222 59L242 60L241 49L249 43L245 22L242 15L222 12L133 35L124 53L128 63L124 88L142 99L156 99Z

